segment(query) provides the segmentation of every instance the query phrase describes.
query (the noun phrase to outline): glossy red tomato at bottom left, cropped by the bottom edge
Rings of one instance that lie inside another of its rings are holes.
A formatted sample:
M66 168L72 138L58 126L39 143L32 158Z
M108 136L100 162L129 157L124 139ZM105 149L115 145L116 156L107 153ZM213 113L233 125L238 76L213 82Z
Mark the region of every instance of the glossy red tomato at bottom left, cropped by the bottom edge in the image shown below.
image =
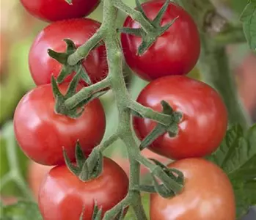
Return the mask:
M110 210L125 198L128 177L109 158L103 160L103 172L94 180L82 182L67 166L56 166L48 173L40 188L39 207L44 220L79 219L83 208L84 220L92 219L94 202Z

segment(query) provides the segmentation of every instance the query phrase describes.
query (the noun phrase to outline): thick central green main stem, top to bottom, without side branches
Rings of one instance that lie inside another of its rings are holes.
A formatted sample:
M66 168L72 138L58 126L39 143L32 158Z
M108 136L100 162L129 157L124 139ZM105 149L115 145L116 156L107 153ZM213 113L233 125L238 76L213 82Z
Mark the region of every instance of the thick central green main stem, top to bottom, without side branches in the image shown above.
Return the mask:
M114 7L111 0L104 1L103 7L103 26L107 26L105 37L106 53L109 65L109 81L111 89L117 101L117 108L119 111L120 130L122 130L121 139L127 144L128 155L131 163L130 189L133 186L139 185L139 163L133 158L134 149L136 149L136 142L131 131L131 112L127 108L130 96L125 87L125 80L122 76L122 50L117 38L116 32L116 16L117 8ZM106 25L107 24L107 25ZM134 145L133 145L134 144ZM138 153L139 148L138 148ZM136 207L131 205L136 214L136 218L140 220L147 219L145 211L142 208L139 191L129 191L129 195L133 197L132 202L136 201Z

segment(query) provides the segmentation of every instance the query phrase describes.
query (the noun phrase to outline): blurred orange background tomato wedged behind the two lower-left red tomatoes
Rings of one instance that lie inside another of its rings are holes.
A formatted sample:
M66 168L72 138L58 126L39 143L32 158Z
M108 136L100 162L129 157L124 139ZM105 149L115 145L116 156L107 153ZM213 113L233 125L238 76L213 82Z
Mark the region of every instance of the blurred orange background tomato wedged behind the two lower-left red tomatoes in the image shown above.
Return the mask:
M38 192L45 176L54 166L44 166L34 161L29 161L28 182L34 198L38 198Z

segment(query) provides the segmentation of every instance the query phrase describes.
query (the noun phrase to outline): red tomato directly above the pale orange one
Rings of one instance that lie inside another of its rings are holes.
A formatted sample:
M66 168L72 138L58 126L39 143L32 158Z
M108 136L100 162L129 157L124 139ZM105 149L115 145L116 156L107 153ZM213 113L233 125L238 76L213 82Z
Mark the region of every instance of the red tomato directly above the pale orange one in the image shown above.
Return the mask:
M227 109L219 94L207 84L186 76L158 78L139 94L138 102L161 111L166 100L183 118L178 135L158 137L148 148L172 159L203 157L211 154L222 142L227 129ZM144 139L156 126L149 119L134 117L134 129Z

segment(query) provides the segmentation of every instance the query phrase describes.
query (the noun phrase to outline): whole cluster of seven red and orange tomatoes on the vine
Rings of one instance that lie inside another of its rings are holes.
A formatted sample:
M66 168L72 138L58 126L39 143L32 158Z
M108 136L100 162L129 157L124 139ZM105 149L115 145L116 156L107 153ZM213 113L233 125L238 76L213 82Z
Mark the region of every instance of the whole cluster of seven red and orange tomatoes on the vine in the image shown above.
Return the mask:
M21 0L32 15L52 22L34 40L29 53L29 67L37 87L28 92L15 110L15 136L29 158L39 164L55 166L42 183L39 206L44 220L92 219L97 203L103 213L117 205L128 192L128 177L110 158L103 159L103 172L93 180L83 182L67 169L62 147L70 160L75 160L79 140L85 155L100 144L106 128L106 118L100 100L89 102L81 117L71 119L54 112L51 76L59 75L62 65L48 56L48 48L64 52L63 39L70 39L78 47L89 40L100 27L98 21L81 18L89 15L98 0ZM142 4L151 20L165 1ZM169 3L161 25L178 19L142 56L137 49L141 37L121 34L125 60L141 78L151 81L137 101L143 106L161 111L161 100L167 101L183 117L178 134L158 137L149 149L172 158L169 167L180 169L185 176L183 192L172 199L158 194L150 197L150 219L235 219L233 190L224 172L201 157L213 153L227 128L227 110L219 94L200 81L184 75L194 67L200 54L200 37L191 16L177 4ZM128 17L125 27L139 28ZM92 83L108 73L106 48L99 45L83 61ZM65 94L73 74L59 84ZM77 91L87 84L80 84ZM146 118L134 117L134 130L139 139L156 126Z

